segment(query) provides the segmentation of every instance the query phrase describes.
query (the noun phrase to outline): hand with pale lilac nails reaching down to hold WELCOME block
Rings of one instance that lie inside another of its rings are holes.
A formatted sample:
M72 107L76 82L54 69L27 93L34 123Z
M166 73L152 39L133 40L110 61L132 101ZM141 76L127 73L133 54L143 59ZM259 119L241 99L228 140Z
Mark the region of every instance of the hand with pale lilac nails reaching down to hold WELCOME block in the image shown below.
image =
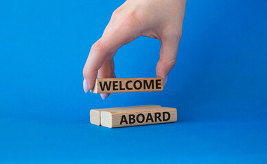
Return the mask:
M111 16L102 38L91 47L84 66L84 92L93 89L95 79L115 78L113 57L124 44L139 36L161 41L156 76L164 78L176 63L181 40L186 0L128 0ZM101 94L104 100L109 94Z

